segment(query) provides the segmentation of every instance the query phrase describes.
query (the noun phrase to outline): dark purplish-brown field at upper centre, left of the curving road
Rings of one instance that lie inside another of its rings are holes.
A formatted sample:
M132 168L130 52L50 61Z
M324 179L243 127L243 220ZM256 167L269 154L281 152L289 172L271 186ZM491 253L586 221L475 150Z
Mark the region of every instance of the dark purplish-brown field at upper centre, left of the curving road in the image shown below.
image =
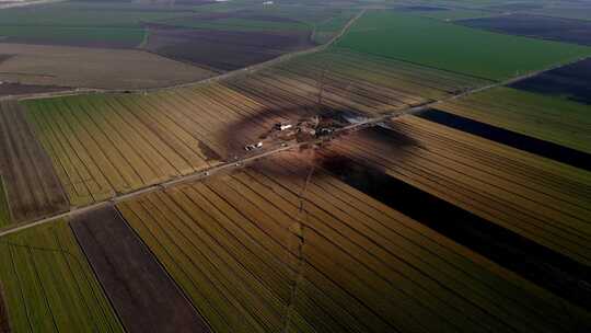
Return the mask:
M151 26L146 49L162 56L234 70L313 46L310 32L240 32Z

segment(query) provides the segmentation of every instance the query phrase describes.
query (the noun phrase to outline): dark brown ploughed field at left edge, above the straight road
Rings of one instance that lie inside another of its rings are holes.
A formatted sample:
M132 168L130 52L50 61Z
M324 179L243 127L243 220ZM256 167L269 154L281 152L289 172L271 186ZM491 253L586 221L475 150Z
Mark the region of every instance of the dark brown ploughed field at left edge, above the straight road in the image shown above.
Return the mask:
M0 103L0 171L13 222L69 208L47 157L15 102Z

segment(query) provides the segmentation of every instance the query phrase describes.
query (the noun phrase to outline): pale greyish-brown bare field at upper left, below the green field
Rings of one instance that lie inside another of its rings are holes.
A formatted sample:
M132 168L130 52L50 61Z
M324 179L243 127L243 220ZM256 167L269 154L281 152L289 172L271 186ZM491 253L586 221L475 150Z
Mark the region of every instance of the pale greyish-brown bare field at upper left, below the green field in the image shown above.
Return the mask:
M215 73L140 50L0 44L0 80L37 85L143 89L198 81Z

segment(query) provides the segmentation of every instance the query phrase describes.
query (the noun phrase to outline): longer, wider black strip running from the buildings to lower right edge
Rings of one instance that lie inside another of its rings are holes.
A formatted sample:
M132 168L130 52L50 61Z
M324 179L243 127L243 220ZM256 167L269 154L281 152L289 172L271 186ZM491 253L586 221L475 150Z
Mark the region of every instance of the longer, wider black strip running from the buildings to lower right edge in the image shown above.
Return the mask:
M392 177L368 162L328 153L321 165L358 191L556 295L583 308L591 303L591 290L586 287L591 283L590 267Z

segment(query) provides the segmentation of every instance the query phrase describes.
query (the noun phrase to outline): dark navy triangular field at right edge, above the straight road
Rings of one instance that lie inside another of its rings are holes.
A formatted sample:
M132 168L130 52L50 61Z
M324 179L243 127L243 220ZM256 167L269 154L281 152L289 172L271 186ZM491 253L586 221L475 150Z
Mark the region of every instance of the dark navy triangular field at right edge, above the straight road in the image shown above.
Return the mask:
M540 73L509 87L591 105L591 58Z

